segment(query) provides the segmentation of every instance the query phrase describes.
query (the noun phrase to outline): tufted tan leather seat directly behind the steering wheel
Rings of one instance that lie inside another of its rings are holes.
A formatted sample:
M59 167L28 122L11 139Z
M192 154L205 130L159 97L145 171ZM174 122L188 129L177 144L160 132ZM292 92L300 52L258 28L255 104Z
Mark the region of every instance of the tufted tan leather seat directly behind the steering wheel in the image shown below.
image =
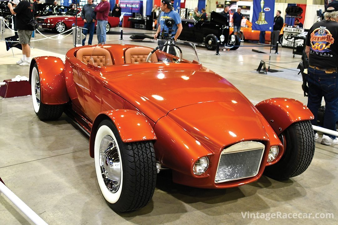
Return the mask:
M149 53L152 51L150 48L134 47L129 48L124 53L125 63L146 62ZM156 53L152 54L152 62L158 62Z

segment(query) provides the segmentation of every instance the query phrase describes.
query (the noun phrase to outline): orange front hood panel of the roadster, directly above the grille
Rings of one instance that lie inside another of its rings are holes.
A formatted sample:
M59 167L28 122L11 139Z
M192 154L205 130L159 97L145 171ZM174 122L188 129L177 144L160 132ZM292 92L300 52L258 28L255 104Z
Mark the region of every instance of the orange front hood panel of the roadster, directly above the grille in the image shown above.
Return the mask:
M269 128L252 104L206 102L172 110L167 116L213 152L244 140L268 140Z

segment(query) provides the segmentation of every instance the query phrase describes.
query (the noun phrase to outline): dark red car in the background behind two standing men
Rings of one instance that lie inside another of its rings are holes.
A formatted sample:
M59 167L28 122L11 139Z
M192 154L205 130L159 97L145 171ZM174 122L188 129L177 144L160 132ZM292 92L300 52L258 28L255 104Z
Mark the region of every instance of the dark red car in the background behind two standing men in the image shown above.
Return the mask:
M75 15L77 15L75 17ZM55 30L58 33L62 33L75 25L75 18L77 20L77 26L83 27L84 22L81 18L81 9L79 8L76 14L75 9L68 10L63 16L43 16L37 17L39 26L46 30ZM95 22L95 28L96 28ZM108 23L106 26L106 31L109 32L111 27L117 27L120 23L118 17L108 17Z

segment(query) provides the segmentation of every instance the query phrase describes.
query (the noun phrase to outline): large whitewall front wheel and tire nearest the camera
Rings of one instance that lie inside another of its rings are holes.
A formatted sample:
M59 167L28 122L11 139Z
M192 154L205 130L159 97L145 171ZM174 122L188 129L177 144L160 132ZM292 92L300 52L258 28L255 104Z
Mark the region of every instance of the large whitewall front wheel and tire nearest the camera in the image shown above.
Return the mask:
M95 135L94 162L101 193L114 211L136 210L151 200L157 174L151 141L124 143L113 122L103 120Z

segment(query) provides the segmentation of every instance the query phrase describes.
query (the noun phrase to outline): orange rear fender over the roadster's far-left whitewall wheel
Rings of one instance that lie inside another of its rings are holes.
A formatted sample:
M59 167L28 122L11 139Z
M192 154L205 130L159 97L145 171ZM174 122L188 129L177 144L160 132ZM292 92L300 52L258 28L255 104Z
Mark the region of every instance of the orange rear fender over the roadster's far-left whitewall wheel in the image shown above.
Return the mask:
M46 105L60 105L69 102L63 61L54 56L33 58L29 68L30 84L35 63L38 65L40 77L41 102Z

